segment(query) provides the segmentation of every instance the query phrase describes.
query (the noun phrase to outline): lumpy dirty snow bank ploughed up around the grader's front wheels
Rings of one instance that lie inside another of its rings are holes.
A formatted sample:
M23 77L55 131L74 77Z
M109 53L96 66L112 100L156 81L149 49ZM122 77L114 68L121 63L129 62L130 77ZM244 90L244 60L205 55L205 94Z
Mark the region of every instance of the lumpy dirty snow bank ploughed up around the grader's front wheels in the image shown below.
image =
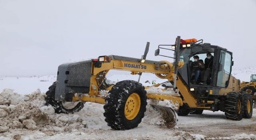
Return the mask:
M52 106L44 106L44 97L40 90L27 95L14 93L10 89L3 90L0 94L0 131L7 132L19 128L40 130L54 135L84 128L110 129L104 121L102 104L86 102L80 112L56 114ZM163 125L164 120L159 112L148 104L142 123Z

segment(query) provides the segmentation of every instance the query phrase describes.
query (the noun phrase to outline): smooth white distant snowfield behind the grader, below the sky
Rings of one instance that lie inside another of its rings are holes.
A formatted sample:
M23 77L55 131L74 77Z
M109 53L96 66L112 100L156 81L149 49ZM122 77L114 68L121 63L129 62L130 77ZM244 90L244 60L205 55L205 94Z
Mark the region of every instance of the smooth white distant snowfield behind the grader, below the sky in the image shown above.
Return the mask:
M256 66L232 70L232 75L242 81L250 81L250 75L256 74ZM56 75L49 76L31 76L31 77L6 77L0 76L0 91L4 88L14 89L19 94L28 94L37 89L46 92L48 87L56 81ZM135 80L138 81L138 75L131 75L130 72L111 70L107 79L111 81ZM147 82L148 81L148 82ZM143 73L140 82L145 86L151 86L152 81L156 83L165 82L165 79L157 78L154 74Z

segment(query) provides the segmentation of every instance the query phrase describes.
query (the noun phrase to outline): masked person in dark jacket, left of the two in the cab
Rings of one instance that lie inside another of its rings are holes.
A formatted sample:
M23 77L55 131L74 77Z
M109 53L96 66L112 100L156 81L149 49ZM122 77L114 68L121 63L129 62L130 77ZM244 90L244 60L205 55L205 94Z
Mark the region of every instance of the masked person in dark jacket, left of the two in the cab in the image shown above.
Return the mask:
M192 62L192 75L194 75L194 80L192 80L192 82L194 84L198 84L198 78L201 74L201 71L204 70L204 62L203 60L199 59L199 56L194 56L194 62Z

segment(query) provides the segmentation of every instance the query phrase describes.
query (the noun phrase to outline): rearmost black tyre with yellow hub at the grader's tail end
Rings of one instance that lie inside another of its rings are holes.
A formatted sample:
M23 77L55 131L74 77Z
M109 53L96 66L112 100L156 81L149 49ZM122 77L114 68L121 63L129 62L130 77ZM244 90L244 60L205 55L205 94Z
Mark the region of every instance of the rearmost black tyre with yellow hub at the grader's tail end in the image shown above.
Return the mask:
M244 104L244 118L252 118L253 100L252 96L248 93L243 93L243 104Z

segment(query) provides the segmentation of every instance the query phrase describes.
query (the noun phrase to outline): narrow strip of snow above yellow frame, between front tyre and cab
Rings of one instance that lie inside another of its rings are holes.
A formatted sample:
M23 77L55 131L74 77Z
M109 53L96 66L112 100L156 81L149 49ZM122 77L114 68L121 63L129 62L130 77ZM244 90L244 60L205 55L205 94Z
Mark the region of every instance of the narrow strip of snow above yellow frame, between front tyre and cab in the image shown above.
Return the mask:
M155 86L150 86L148 87L148 89L145 89L145 90L147 91L147 93L152 93L152 94L167 94L167 95L180 96L178 92L177 93L174 92L171 88L162 89Z

